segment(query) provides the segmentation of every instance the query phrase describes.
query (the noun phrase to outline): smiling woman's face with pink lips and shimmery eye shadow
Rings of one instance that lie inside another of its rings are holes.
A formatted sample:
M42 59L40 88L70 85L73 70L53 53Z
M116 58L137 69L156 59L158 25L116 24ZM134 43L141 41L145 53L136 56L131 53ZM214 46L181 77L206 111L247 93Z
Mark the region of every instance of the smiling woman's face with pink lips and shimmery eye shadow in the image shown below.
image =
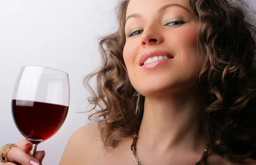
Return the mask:
M200 60L189 0L130 0L123 58L144 96L195 87Z

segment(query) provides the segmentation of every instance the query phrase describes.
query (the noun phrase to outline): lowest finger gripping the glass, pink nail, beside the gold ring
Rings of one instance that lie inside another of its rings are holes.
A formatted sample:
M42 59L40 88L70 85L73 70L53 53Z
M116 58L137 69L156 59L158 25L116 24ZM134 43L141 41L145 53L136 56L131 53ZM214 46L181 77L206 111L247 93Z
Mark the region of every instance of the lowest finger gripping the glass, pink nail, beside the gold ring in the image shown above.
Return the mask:
M7 160L9 162L18 162L22 165L39 165L40 164L39 161L35 159L32 155L21 151L17 147L12 148L7 153Z

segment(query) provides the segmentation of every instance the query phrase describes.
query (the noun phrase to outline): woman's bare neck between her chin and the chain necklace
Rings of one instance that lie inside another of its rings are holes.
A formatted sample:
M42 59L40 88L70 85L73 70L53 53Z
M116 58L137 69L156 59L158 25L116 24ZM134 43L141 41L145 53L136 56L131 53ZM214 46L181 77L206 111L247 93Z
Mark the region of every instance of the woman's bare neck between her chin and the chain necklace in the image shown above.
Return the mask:
M145 97L138 142L163 152L177 147L202 151L207 142L202 131L201 98L201 93L192 90L169 97Z

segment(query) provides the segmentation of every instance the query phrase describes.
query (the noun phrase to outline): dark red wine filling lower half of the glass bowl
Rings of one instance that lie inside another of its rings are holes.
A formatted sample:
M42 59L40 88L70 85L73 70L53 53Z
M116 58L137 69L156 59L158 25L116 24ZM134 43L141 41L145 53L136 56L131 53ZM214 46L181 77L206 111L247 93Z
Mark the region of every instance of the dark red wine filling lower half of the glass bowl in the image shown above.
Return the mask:
M68 107L64 105L12 100L12 115L18 130L36 145L61 128L67 112Z

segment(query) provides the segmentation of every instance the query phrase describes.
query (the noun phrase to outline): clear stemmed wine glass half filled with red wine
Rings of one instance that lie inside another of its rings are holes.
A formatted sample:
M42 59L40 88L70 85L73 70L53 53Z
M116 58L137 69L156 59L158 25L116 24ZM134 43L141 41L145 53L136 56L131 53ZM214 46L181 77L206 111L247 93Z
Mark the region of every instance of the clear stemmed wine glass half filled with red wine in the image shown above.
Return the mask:
M37 145L64 123L70 100L68 74L53 68L21 67L12 96L12 117L20 133Z

